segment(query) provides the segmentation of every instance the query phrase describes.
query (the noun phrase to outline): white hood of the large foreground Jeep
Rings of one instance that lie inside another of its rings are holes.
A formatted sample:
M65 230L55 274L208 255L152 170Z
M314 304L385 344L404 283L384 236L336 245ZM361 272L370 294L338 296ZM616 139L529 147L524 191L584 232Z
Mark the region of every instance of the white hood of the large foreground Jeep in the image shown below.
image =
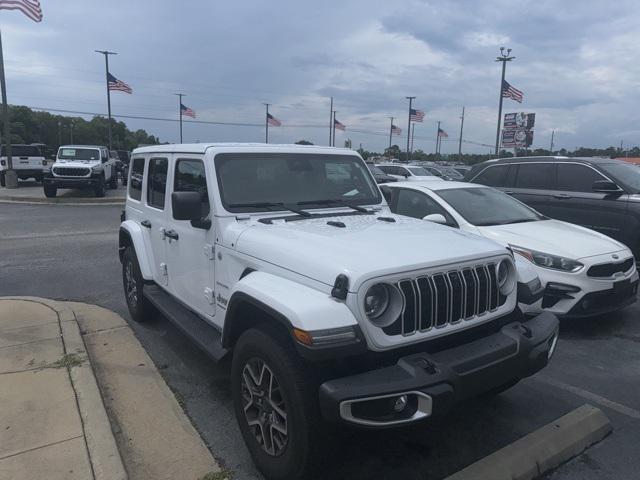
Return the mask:
M328 222L341 222L344 227ZM504 247L479 235L386 213L274 220L272 224L252 221L240 233L235 248L328 285L345 274L351 291L381 275L506 253Z

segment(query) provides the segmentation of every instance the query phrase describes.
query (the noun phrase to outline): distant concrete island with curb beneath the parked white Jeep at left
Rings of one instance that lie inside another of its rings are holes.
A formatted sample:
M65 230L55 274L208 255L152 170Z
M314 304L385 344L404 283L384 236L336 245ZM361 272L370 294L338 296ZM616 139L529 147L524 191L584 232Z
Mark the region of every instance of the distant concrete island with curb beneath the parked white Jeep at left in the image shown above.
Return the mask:
M73 203L73 204L122 204L127 188L118 182L117 190L106 191L106 196L96 198L91 190L60 189L54 198L44 196L42 184L34 181L19 181L18 188L0 187L0 202L11 203Z

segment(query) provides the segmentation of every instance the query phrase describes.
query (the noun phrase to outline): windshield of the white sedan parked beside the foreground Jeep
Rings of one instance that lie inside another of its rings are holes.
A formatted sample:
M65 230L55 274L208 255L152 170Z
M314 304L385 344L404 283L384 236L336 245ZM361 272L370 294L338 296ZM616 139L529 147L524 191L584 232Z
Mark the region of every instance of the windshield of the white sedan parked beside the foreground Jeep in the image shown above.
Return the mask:
M472 225L535 222L545 217L493 188L452 188L437 194Z

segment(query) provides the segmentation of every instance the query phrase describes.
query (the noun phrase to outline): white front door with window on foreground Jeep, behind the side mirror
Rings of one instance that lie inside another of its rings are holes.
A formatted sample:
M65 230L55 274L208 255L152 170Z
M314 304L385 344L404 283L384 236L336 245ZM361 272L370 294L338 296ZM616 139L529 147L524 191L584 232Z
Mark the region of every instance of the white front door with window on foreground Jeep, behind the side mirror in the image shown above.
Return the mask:
M209 218L210 200L202 155L174 155L171 192L198 192L202 200L201 218ZM171 201L168 202L169 204ZM171 205L168 206L171 210ZM167 263L169 291L201 316L213 317L214 229L200 228L189 220L167 219ZM169 233L169 232L168 232Z

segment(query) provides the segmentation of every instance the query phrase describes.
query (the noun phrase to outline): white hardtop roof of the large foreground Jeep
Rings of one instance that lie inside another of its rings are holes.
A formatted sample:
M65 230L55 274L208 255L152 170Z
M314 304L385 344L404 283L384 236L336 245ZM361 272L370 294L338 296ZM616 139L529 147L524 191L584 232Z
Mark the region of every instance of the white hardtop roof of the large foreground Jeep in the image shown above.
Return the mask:
M305 153L329 153L343 155L357 155L357 152L348 148L324 147L321 145L296 145L274 143L171 143L166 145L152 145L133 150L136 153L205 153L208 149L224 149L237 152L305 152Z

